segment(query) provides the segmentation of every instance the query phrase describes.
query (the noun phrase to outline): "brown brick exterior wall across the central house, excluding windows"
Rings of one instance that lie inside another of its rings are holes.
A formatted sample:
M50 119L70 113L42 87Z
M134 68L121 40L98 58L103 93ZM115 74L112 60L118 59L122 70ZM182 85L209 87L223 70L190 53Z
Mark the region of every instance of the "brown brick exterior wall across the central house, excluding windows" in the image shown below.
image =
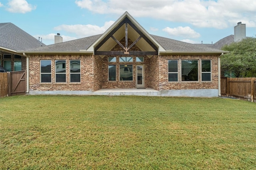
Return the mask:
M124 43L124 39L121 43ZM132 42L128 40L128 45ZM116 45L111 51L124 51ZM134 45L131 51L141 51ZM2 55L1 55L2 56ZM154 55L130 56L132 62L119 62L118 55L29 55L29 85L30 91L96 91L102 88L136 88L136 65L144 65L144 86L156 90L170 89L218 89L218 55ZM116 57L116 62L108 62L108 57ZM136 62L136 57L144 57L144 62ZM52 83L40 83L40 60L52 61ZM66 60L66 83L55 83L55 60ZM70 60L80 60L81 82L70 83ZM168 59L178 60L179 81L168 82ZM181 81L181 60L198 60L198 81ZM209 59L212 62L212 81L201 81L201 60ZM2 60L1 60L2 61ZM26 57L25 57L26 61ZM26 63L26 62L24 62ZM116 65L116 81L108 81L108 65ZM120 65L133 65L133 80L120 81Z

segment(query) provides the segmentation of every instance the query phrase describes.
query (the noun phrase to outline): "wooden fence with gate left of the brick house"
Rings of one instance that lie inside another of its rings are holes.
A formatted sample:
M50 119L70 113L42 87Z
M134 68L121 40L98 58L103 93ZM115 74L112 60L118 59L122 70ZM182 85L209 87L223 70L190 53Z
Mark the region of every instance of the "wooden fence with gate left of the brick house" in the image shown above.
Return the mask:
M0 97L25 94L26 71L0 73Z

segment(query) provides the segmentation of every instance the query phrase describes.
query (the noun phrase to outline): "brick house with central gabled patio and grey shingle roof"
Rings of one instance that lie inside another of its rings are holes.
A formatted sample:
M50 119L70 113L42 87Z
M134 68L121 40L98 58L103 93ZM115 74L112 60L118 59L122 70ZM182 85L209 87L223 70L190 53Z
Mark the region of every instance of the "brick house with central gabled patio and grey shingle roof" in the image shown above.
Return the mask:
M104 34L17 52L29 59L28 94L146 88L147 95L217 97L228 51L150 35L125 12Z

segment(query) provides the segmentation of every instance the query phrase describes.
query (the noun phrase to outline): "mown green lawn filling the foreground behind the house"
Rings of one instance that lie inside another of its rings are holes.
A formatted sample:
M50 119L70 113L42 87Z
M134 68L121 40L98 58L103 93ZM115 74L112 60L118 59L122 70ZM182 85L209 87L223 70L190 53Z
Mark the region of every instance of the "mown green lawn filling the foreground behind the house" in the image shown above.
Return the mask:
M0 169L256 169L256 104L221 98L0 99Z

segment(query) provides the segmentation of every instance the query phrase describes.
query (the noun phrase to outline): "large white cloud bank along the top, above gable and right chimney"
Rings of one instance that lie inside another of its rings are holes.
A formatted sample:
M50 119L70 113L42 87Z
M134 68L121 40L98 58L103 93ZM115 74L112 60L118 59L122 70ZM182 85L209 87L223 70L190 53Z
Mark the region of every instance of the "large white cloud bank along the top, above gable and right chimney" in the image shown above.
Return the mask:
M227 28L234 23L256 27L255 0L76 0L80 8L99 14L152 17L197 27Z

